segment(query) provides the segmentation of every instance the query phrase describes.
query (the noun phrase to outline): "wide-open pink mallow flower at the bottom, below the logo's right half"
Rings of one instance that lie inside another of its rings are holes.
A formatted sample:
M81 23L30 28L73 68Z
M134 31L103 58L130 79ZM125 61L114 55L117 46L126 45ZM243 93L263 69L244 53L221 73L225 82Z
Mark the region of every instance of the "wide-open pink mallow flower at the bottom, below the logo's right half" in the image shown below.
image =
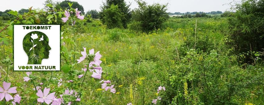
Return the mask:
M37 96L39 96L40 98L38 98L37 101L41 103L45 102L47 104L51 103L54 99L55 92L49 94L49 90L50 88L46 87L43 92L41 90L38 90Z

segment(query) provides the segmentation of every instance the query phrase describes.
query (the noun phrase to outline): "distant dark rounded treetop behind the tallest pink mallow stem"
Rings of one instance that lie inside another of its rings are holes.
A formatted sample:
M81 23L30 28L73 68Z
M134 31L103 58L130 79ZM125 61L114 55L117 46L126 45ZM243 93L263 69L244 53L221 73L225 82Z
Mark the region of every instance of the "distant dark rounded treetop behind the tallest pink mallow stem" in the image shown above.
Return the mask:
M81 11L81 13L84 14L84 9L82 5L80 5L78 2L72 2L69 0L65 0L63 2L58 3L59 6L56 6L56 9L57 10L59 10L59 8L62 8L64 10L70 9L68 2L73 3L72 8L78 8L78 11Z

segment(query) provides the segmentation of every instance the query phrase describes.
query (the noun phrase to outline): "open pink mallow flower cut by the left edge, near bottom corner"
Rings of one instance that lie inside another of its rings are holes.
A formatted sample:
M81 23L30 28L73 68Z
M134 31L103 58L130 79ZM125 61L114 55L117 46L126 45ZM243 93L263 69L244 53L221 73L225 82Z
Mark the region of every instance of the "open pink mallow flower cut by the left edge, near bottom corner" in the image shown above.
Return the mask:
M9 93L17 93L17 87L11 87L11 83L3 82L3 87L0 87L0 101L2 101L4 98L6 101L9 101L13 99L13 97Z

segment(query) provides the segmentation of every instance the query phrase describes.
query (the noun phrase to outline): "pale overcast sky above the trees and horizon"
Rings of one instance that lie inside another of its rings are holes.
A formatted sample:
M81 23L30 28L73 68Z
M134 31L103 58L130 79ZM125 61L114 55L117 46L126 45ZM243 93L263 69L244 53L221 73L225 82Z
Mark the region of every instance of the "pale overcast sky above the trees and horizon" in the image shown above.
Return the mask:
M54 0L54 1L64 1L64 0ZM105 0L71 0L76 1L81 4L84 11L95 9L100 11L100 6ZM125 0L127 3L131 3L130 8L137 8L138 5L134 0ZM233 0L143 0L148 4L168 3L167 12L194 12L194 11L226 11L229 10L229 3ZM43 8L43 3L45 0L3 0L1 1L0 11L5 11L7 9L19 11L21 8L28 9L28 7L33 6L33 8Z

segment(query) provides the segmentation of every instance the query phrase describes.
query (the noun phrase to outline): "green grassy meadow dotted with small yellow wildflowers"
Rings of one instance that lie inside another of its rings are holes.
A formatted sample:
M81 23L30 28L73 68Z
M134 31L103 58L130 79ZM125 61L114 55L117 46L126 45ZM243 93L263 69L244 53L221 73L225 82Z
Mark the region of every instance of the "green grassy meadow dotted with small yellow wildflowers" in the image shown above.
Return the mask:
M9 22L2 21L1 26ZM108 29L96 19L76 20L73 26L62 23L62 70L28 75L12 71L12 34L9 30L1 34L7 38L0 44L1 81L17 87L21 104L46 104L40 103L36 94L45 87L51 94L55 92L57 99L63 98L63 104L264 104L261 53L245 53L252 55L253 63L243 63L245 55L235 54L235 46L228 44L233 41L229 39L228 18L170 17L161 29L149 32ZM86 69L90 61L77 63L84 48L86 52L93 48L100 51L100 79L91 76L97 72ZM103 88L104 82L114 85L111 89L115 91ZM59 97L67 88L68 93L76 90L78 95ZM5 99L0 103L12 104Z

